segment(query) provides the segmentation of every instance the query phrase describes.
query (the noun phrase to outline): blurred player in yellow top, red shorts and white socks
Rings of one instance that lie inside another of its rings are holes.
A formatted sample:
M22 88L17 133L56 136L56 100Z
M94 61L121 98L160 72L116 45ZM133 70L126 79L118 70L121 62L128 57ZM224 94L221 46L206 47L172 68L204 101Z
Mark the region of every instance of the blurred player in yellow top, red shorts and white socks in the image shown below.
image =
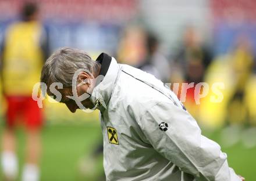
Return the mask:
M15 180L18 172L15 127L26 125L26 164L22 180L39 180L42 111L31 98L33 86L48 55L47 34L38 21L38 6L24 3L22 20L11 24L3 39L1 77L6 99L6 125L2 135L1 165L5 180Z

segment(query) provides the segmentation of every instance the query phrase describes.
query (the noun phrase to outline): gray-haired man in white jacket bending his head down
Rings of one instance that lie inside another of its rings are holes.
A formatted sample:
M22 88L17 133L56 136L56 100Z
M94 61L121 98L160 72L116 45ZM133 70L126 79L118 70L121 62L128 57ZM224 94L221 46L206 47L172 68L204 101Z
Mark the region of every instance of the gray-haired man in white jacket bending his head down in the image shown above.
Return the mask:
M105 53L94 61L82 50L62 48L46 61L41 82L72 113L100 110L106 180L244 180L151 74ZM54 82L61 85L49 89Z

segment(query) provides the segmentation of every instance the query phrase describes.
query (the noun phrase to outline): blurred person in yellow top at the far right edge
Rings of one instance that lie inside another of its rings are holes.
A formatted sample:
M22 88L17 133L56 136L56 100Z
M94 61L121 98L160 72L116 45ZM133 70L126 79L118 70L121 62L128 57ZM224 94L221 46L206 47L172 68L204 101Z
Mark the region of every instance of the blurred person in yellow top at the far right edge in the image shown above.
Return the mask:
M246 89L250 86L253 75L255 57L251 42L245 35L237 38L236 47L230 53L230 68L232 69L233 91L227 104L227 120L249 124L248 102Z

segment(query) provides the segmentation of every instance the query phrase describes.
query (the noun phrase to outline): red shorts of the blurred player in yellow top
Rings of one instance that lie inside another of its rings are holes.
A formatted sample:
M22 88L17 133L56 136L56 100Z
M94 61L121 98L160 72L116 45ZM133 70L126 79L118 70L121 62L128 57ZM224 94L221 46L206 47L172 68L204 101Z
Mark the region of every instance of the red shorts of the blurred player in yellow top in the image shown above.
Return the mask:
M32 97L7 96L6 123L13 128L22 120L28 129L39 129L42 126L42 111Z

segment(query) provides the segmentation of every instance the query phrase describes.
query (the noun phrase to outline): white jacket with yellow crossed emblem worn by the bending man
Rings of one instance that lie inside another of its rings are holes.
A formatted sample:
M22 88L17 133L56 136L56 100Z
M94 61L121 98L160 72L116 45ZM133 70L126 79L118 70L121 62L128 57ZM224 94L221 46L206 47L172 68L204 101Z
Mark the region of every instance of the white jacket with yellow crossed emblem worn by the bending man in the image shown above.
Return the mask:
M105 53L97 61L106 180L241 180L161 81Z

